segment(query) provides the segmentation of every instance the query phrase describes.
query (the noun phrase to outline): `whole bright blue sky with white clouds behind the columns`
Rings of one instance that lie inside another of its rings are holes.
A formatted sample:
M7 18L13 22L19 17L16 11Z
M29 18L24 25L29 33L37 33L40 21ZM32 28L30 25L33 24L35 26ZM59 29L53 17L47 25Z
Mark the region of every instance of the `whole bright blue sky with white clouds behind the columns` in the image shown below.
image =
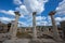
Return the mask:
M2 23L15 19L14 11L20 11L18 26L32 26L32 12L37 12L37 26L51 26L48 15L51 11L55 14L56 25L65 20L65 0L0 0L0 20ZM62 15L63 14L63 15Z

